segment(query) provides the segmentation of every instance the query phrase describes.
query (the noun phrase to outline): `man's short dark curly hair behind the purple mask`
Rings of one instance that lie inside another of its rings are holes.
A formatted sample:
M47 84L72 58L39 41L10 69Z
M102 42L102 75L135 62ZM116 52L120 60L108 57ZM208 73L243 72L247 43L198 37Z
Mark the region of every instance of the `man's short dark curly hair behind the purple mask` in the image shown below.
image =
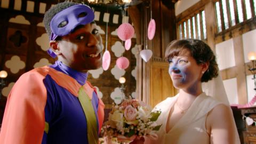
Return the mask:
M57 5L52 6L51 9L45 12L43 22L44 22L45 30L49 36L51 36L52 34L52 30L50 27L52 18L60 11L65 10L70 6L77 5L77 4L79 3L73 3L73 2L58 3Z

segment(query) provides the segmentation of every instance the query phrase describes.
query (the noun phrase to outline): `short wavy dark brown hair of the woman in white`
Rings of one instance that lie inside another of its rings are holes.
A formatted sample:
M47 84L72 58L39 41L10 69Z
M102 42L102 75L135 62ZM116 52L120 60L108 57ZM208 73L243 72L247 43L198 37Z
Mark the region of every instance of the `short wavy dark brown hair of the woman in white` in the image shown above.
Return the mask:
M205 71L201 78L201 82L208 82L213 77L218 76L218 64L215 60L215 55L210 46L198 39L181 39L174 40L165 50L165 59L169 61L174 56L182 54L182 50L190 51L191 56L196 60L197 64L209 62L209 68Z

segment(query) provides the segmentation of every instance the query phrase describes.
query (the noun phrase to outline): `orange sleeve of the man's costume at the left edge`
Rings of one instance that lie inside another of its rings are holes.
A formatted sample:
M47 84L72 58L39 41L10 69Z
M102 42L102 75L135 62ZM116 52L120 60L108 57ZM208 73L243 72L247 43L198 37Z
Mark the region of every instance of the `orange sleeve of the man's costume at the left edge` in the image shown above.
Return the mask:
M44 108L47 92L43 79L47 67L23 74L7 99L0 143L41 143L44 133Z

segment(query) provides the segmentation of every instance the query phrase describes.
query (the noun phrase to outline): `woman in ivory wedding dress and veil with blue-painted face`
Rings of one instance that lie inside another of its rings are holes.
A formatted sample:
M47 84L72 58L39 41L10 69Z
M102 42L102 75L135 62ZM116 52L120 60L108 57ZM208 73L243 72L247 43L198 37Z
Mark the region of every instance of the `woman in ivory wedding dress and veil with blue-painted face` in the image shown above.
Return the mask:
M179 93L155 107L162 111L157 120L162 126L157 140L145 137L144 143L240 143L210 47L197 39L175 40L167 46L165 58ZM206 91L212 90L207 93L209 97L202 90L202 83L211 79L219 79L220 84L213 84L214 90L208 86Z

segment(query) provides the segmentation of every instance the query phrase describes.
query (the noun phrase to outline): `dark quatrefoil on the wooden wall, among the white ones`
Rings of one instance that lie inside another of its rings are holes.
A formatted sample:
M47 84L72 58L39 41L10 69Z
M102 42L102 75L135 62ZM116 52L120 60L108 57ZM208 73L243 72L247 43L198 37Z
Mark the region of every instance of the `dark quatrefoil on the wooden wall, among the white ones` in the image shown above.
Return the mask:
M10 36L9 40L14 44L14 46L20 47L22 43L27 42L27 37L23 36L20 30L17 30Z

